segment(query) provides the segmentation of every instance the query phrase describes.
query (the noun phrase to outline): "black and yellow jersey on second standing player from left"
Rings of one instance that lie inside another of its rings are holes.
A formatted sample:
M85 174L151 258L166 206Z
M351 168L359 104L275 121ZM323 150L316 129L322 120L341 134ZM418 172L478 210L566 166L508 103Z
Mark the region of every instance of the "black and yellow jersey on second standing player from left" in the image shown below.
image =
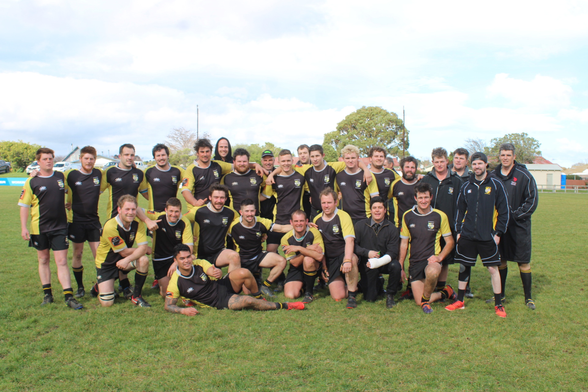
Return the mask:
M69 187L68 202L72 203L70 222L100 223L98 201L100 200L100 184L102 171L92 169L89 174L78 169L65 172L65 182Z

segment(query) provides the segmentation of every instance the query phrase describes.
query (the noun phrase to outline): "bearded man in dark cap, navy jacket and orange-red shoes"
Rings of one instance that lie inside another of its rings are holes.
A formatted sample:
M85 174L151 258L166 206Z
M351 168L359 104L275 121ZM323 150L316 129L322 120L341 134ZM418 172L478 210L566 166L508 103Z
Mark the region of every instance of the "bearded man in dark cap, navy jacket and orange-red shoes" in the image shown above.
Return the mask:
M481 152L472 154L473 175L470 176L457 197L457 218L455 231L457 245L455 260L465 268L460 270L457 300L445 307L447 310L463 309L463 296L472 266L477 256L487 267L495 293L495 311L506 317L505 307L500 300L500 263L498 243L509 223L509 204L502 182L486 171L488 159Z

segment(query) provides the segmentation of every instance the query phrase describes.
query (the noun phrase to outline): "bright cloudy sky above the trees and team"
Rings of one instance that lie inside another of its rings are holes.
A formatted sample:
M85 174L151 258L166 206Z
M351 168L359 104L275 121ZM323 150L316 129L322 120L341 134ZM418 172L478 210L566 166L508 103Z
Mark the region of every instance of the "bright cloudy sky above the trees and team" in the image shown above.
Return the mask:
M172 128L294 149L353 110L410 152L527 132L588 159L588 4L0 0L0 140L139 155Z

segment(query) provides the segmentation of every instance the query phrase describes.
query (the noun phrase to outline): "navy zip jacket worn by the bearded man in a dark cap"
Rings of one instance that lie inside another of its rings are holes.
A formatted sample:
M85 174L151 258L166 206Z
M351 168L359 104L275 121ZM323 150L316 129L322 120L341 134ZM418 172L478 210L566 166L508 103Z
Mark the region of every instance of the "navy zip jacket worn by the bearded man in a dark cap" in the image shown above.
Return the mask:
M473 241L490 241L505 233L509 224L509 203L505 187L492 173L481 183L474 173L463 184L457 197L456 234Z

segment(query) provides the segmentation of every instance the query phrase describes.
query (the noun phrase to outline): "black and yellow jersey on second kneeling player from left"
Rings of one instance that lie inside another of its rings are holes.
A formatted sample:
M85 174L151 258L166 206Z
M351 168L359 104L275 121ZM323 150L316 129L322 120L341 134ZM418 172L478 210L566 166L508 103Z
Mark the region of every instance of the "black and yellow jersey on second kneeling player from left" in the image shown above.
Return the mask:
M192 225L182 216L176 223L170 223L165 212L147 211L146 215L151 220L161 219L157 223L158 229L153 232L153 260L165 260L173 257L173 248L177 244L193 245Z

